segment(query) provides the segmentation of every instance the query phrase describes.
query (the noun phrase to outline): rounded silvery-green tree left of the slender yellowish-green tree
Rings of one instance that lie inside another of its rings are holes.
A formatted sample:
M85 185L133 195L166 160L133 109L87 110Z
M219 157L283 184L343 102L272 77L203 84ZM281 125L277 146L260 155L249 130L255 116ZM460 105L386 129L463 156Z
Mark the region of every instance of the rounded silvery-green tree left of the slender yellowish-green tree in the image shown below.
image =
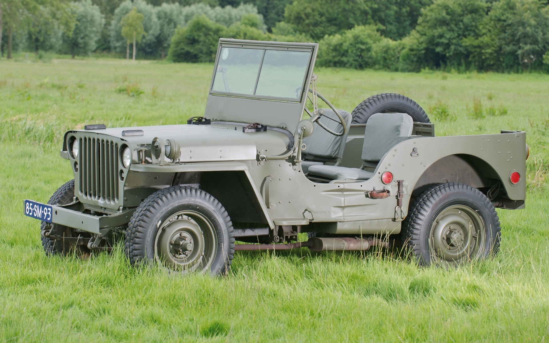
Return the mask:
M76 17L72 35L63 35L63 49L72 55L88 55L96 49L105 19L91 0L71 4Z

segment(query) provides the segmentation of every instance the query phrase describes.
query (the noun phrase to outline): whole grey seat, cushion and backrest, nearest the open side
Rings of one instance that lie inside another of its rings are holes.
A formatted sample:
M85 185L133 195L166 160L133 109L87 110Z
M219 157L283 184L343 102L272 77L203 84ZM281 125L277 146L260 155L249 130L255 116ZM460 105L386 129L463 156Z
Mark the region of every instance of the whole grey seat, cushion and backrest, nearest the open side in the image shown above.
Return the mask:
M369 117L362 145L362 168L314 165L309 167L307 177L313 181L332 180L363 181L374 173L363 167L376 167L383 156L396 144L410 139L413 120L405 113L376 113Z

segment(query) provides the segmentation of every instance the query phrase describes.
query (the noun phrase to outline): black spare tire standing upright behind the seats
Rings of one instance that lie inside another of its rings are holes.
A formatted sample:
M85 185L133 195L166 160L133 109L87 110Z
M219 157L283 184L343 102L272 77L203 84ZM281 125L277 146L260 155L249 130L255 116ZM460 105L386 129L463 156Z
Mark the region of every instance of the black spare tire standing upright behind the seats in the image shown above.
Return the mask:
M430 123L427 113L414 100L395 93L372 95L352 110L352 123L364 124L372 114L406 113L413 121Z

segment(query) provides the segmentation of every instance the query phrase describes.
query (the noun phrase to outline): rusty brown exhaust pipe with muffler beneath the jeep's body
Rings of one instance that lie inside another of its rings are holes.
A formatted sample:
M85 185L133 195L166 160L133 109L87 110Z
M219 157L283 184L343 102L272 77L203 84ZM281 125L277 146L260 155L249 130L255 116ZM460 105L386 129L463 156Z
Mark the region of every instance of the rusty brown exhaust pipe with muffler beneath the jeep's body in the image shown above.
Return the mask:
M311 237L306 242L291 244L237 244L234 250L290 250L309 248L312 251L343 251L368 250L371 246L379 245L389 248L389 243L379 239L363 239L352 237L320 238Z

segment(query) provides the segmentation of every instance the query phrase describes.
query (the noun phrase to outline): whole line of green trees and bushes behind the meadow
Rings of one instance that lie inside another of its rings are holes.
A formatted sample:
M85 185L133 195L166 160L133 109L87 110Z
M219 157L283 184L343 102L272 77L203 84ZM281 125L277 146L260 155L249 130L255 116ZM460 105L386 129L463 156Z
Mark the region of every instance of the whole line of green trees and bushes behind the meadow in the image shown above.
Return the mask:
M549 71L547 0L172 1L0 0L0 47L206 62L227 37L318 42L319 66Z

